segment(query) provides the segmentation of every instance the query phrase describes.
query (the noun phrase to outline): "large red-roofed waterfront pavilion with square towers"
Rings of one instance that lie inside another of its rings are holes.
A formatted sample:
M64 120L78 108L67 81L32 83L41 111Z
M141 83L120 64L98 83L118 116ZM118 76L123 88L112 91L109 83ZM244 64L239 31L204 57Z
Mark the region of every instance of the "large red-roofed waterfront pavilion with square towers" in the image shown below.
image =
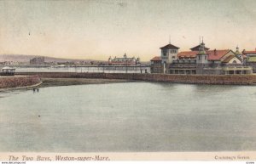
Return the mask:
M236 52L210 50L202 41L190 51L178 52L179 48L171 43L160 49L161 55L151 59L152 73L229 75L253 72L252 67L245 65L245 55L238 47Z

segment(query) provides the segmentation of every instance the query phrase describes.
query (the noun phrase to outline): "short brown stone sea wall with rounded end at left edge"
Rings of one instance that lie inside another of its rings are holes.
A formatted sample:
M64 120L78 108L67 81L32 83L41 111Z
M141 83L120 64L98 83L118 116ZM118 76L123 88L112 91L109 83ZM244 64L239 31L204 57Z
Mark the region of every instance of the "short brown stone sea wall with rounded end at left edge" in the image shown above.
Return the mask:
M38 84L40 77L33 76L0 76L0 88L17 88Z

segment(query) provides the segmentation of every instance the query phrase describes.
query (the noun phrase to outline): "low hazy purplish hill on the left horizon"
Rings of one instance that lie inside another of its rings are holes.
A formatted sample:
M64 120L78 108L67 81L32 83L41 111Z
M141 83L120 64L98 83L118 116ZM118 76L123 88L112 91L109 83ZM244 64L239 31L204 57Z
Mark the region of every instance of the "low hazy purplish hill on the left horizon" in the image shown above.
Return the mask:
M53 58L48 56L27 55L27 54L0 54L0 62L3 61L17 61L17 62L29 62L30 59L35 57L44 57L45 62L67 62L67 61L100 61L94 59L64 59Z

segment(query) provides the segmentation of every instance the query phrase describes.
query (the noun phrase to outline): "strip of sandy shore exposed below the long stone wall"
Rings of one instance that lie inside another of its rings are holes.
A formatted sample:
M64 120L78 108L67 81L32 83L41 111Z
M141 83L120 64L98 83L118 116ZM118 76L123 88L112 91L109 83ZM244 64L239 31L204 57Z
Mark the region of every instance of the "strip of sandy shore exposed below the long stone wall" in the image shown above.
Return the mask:
M96 78L42 78L42 83L39 88L54 87L54 86L69 86L82 84L104 84L113 82L133 82L123 79L96 79Z

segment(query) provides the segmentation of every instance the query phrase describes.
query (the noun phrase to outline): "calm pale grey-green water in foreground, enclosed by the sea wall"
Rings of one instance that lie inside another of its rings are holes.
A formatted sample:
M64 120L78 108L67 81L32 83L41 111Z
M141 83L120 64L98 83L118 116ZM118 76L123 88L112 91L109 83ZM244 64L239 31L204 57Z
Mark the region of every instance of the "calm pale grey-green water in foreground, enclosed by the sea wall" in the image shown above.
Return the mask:
M0 97L0 151L256 150L256 87L128 82Z

